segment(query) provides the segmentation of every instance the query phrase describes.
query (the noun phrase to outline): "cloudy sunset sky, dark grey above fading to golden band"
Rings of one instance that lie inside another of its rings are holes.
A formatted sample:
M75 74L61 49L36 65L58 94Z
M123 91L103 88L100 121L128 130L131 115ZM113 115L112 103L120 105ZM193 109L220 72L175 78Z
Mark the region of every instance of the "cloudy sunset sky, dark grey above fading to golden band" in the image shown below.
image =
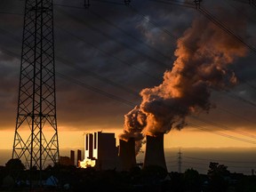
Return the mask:
M89 10L82 0L53 2L60 148L82 148L84 132L115 132L117 138L124 129L124 115L140 106L140 92L162 84L164 72L172 70L177 41L188 40L188 28L197 36L193 44L184 46L193 49L200 42L207 50L208 44L218 44L217 52L210 51L224 57L227 71L234 71L237 80L233 86L212 85L210 109L198 108L186 116L188 125L167 133L164 146L256 146L255 6L233 0L203 1L201 8L220 20L228 34L196 10L192 0L134 0L130 7L122 0L92 0ZM0 149L11 149L14 137L24 4L0 1ZM205 32L206 26L212 27L213 38ZM226 48L231 52L228 56L222 52ZM210 54L207 51L204 54ZM234 77L228 72L223 81ZM217 78L218 74L212 75L212 81Z

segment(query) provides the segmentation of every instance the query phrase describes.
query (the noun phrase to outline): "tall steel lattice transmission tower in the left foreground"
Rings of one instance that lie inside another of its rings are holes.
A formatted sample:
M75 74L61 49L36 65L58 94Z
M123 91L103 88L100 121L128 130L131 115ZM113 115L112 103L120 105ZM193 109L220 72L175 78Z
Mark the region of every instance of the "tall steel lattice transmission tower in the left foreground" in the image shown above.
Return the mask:
M59 162L52 0L26 0L12 158L43 170Z

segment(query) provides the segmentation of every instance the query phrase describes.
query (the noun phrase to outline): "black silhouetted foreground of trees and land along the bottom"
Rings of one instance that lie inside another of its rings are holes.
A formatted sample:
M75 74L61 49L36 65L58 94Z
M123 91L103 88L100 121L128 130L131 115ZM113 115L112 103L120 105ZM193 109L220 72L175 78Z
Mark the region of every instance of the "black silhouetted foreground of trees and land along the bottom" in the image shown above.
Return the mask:
M97 171L56 165L43 172L25 171L19 162L0 169L0 191L111 191L111 192L256 192L256 176L228 172L223 164L210 163L207 174L194 169L166 172L157 166L127 172Z

